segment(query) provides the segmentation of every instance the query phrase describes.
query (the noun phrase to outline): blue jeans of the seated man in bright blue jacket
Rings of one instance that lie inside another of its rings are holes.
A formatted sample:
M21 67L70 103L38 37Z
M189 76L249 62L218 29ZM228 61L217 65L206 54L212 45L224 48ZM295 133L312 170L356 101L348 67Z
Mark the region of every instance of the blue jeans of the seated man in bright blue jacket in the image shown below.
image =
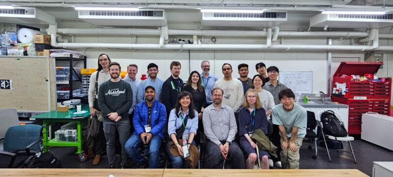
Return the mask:
M161 137L154 135L149 141L149 168L158 168L159 149ZM144 163L144 157L138 152L138 148L143 144L142 139L137 134L133 134L126 142L125 149L134 161L138 164Z

